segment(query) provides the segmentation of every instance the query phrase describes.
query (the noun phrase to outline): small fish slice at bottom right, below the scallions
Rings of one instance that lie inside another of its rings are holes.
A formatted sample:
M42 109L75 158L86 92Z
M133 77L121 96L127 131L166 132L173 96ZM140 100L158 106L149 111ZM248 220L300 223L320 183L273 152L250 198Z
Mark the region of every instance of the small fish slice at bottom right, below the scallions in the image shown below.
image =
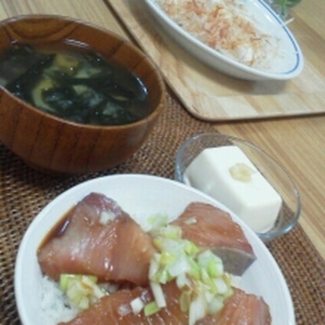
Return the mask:
M261 297L234 288L234 294L214 316L197 321L196 325L271 325L269 306Z

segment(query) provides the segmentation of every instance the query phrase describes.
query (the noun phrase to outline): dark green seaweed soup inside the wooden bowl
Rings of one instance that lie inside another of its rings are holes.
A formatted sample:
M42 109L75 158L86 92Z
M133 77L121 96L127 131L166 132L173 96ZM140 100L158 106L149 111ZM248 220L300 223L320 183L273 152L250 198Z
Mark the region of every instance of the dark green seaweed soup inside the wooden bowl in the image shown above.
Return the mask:
M13 44L0 59L0 84L57 117L118 125L149 114L148 92L142 81L89 49Z

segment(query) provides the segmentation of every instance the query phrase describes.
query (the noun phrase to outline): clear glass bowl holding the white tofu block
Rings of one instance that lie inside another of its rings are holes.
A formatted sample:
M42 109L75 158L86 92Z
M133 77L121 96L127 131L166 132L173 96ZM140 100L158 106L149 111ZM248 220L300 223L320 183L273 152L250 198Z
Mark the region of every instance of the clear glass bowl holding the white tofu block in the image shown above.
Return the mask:
M181 144L176 154L175 179L191 186L187 178L184 177L184 172L192 160L204 149L229 145L237 146L244 152L257 171L263 175L282 199L279 213L272 228L266 232L256 232L257 236L267 242L288 233L297 224L301 213L299 191L289 173L278 161L248 141L218 133L199 134L187 139ZM214 199L227 206L220 198L214 196ZM228 208L232 210L231 207L228 206ZM236 211L233 212L241 217Z

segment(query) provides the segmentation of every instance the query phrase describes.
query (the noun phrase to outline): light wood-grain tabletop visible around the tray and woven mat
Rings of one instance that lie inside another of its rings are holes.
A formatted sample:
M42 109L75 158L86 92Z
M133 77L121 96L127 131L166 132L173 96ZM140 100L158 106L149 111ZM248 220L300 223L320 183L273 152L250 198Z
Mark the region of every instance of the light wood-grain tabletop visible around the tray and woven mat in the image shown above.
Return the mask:
M105 0L0 2L0 19L30 13L76 17L128 36ZM325 57L325 3L303 0L292 10L292 14L295 21L290 26L291 31L298 42L304 40L310 45L303 48L304 55L310 60ZM298 29L299 35L295 34ZM263 147L290 171L302 198L303 211L299 222L325 258L325 116L222 122L214 126L221 133L235 135Z

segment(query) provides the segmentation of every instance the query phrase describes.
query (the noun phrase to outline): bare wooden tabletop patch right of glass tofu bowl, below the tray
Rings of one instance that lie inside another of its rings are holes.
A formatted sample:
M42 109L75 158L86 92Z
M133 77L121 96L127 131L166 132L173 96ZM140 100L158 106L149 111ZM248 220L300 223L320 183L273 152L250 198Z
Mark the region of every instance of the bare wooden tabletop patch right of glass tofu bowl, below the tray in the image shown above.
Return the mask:
M325 258L325 116L215 124L264 148L293 177L302 200L300 224Z

